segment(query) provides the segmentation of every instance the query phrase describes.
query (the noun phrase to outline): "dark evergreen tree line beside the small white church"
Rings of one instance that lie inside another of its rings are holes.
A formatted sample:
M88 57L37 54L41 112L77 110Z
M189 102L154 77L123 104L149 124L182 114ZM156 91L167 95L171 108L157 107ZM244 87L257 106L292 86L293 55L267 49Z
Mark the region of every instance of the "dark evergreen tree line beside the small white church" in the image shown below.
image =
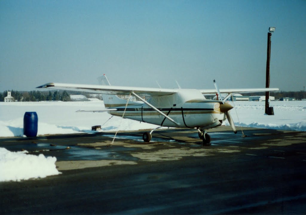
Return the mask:
M71 101L67 91L11 91L11 96L18 102L40 102L40 101ZM0 93L0 102L4 102L7 90Z

